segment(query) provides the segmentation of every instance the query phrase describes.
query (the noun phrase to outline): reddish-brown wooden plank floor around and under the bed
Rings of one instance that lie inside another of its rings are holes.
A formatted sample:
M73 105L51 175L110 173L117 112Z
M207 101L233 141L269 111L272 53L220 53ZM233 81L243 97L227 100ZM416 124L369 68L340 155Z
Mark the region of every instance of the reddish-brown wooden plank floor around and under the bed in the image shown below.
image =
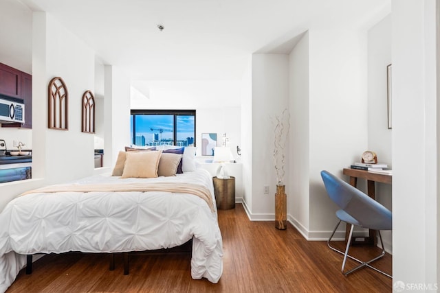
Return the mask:
M336 222L335 222L336 224ZM152 254L130 257L130 274L124 275L122 256L109 271L104 254L47 255L34 263L34 272L22 270L8 289L12 292L391 292L393 281L369 268L349 277L340 272L342 255L326 242L307 242L289 224L250 222L241 204L219 211L223 236L223 275L217 284L193 280L190 255ZM341 245L342 242L341 242ZM366 253L364 251L367 250ZM365 259L377 248L353 247ZM377 267L391 274L391 255ZM349 261L353 268L355 263Z

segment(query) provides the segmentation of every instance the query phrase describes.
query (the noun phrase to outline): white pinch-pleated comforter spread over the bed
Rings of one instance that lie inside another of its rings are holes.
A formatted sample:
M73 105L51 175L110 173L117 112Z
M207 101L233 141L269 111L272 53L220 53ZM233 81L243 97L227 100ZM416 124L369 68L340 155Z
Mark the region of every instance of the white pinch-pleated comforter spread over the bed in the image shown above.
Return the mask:
M150 179L91 176L77 183L142 180L199 184L214 197L212 177L203 169ZM163 191L20 196L0 213L0 292L12 284L28 254L142 251L178 246L192 237L192 278L217 283L223 271L217 210L212 213L197 196Z

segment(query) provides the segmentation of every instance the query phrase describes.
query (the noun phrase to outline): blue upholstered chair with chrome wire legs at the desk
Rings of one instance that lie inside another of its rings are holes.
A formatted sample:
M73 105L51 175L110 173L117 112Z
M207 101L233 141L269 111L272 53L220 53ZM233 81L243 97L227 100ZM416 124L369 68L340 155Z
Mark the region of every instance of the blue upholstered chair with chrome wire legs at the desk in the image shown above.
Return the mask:
M386 274L385 272L382 272L382 270L378 270L377 268L374 268L369 264L385 255L384 242L382 242L382 235L380 235L380 231L392 229L391 211L386 209L386 207L384 207L379 202L373 200L373 198L370 198L369 196L364 194L359 189L356 189L355 187L346 183L344 180L341 180L340 178L334 176L333 174L330 174L327 171L322 171L321 177L324 181L325 189L327 190L329 198L331 198L331 200L333 200L333 202L338 204L338 207L340 207L340 209L336 211L336 217L338 217L339 219L338 224L336 224L333 233L327 241L327 245L332 250L344 255L344 261L342 262L341 268L342 274L347 276L347 274L350 274L351 272L354 272L359 268L367 266L391 278L389 274ZM331 238L333 238L333 235L335 235L335 232L341 222L351 224L349 239L347 241L347 248L345 249L345 253L330 245ZM380 244L382 245L382 253L380 255L369 261L360 261L359 259L356 259L355 257L349 255L349 248L351 237L353 236L354 226L360 226L377 231L380 238ZM358 261L361 264L353 268L352 270L349 270L348 272L344 272L347 257Z

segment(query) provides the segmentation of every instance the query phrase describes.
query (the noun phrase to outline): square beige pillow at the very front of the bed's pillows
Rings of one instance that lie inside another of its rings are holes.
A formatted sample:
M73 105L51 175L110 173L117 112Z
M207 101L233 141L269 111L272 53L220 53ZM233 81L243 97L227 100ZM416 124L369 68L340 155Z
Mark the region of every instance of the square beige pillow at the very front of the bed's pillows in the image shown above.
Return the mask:
M124 172L121 178L153 178L157 177L162 150L151 152L126 152Z

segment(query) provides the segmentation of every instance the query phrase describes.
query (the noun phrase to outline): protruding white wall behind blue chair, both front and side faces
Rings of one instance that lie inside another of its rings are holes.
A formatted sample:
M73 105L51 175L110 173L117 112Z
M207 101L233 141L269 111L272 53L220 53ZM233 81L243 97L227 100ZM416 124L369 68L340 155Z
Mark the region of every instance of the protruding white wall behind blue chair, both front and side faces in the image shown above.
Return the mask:
M366 32L309 30L290 62L295 125L289 172L298 177L292 179L294 195L287 196L299 207L289 208L289 218L307 239L328 239L337 207L320 172L326 169L344 178L342 169L358 161L367 147ZM338 236L343 227L340 231Z

